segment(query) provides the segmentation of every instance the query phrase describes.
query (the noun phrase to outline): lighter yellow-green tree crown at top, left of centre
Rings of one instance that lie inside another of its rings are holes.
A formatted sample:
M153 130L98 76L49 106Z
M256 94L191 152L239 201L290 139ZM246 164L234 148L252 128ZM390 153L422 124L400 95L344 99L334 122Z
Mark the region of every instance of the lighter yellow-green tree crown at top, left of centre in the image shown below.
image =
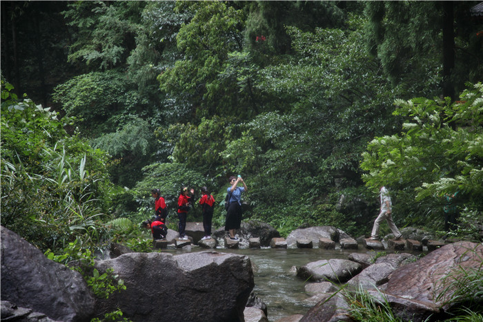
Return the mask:
M177 60L172 68L166 68L159 75L161 91L185 111L188 118L183 122L215 113L249 113L242 106L234 108L247 104L246 94L239 93L234 86L235 79L218 77L226 70L229 53L242 50L244 12L220 1L180 1L176 10L192 12L193 19L179 29L177 46L184 53L184 59ZM251 110L252 106L249 107Z

